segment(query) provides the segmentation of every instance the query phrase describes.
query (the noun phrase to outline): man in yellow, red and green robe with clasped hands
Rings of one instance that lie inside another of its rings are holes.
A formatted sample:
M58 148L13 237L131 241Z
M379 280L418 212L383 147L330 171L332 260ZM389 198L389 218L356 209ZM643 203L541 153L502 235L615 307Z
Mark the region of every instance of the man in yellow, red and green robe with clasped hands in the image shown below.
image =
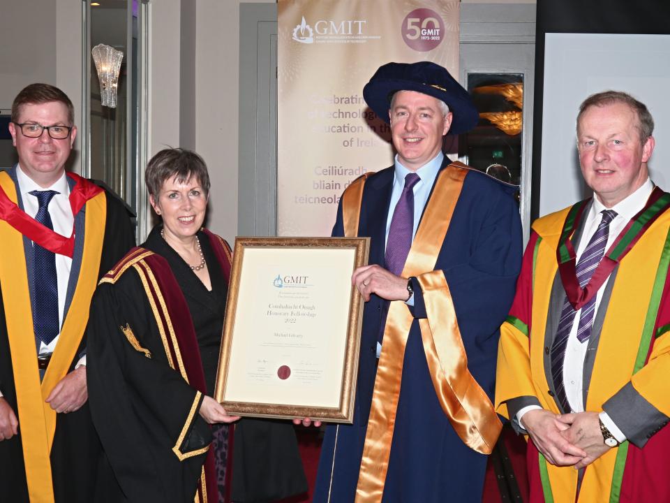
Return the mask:
M577 124L595 194L533 224L501 329L496 410L529 437L532 502L670 501L670 194L648 177L653 119L604 92L582 103ZM601 212L616 216L582 282Z

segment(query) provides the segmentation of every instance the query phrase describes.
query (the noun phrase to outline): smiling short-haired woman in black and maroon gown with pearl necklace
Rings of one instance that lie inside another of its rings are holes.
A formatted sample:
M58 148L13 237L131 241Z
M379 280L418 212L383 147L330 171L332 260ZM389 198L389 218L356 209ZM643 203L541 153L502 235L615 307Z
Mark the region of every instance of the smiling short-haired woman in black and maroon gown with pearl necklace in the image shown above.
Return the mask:
M105 451L96 502L265 502L304 492L292 425L245 419L229 435L226 424L239 418L211 398L231 256L202 227L207 166L195 152L166 149L145 180L162 223L103 277L91 307L89 402Z

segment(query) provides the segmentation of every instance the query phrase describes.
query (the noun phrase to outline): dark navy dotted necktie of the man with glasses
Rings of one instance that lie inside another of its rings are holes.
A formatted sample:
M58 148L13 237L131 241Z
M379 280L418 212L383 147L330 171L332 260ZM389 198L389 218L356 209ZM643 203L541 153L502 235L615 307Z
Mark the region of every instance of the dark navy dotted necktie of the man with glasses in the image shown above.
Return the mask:
M40 207L35 215L36 221L53 230L54 226L47 207L57 191L31 191ZM45 344L49 344L59 333L58 319L58 278L56 275L56 254L36 242L33 243L33 326L35 335Z

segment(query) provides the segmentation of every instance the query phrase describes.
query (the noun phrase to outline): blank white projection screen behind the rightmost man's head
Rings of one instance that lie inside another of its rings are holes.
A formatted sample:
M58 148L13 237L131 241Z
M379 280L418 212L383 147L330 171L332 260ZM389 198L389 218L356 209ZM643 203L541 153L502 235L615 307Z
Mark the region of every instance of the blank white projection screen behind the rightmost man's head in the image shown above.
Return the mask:
M668 189L670 147L664 142L670 135L667 61L667 35L546 35L540 215L591 195L579 168L575 122L579 104L590 94L608 89L628 92L648 106L656 138L648 163L650 176Z

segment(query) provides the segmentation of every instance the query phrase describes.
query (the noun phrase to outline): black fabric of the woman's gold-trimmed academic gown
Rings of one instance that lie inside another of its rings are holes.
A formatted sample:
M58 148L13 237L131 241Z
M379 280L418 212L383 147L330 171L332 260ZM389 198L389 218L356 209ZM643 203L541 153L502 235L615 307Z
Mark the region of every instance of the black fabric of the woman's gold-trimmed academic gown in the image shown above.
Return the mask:
M142 248L167 261L181 289L195 329L207 394L211 395L227 282L207 235L200 232L198 238L211 291L165 243L160 228L151 231ZM175 315L170 316L174 319ZM89 326L89 394L105 449L104 462L111 468L100 479L98 502L193 502L206 455L198 451L210 444L211 432L198 414L202 398L198 400L195 388L170 367L155 319L154 307L135 268L128 268L113 283L98 287ZM129 343L127 335L119 330L124 326L132 329L137 344ZM176 320L174 326L178 330ZM195 414L185 425L184 418L193 404ZM173 448L182 431L186 435L178 450L188 457L179 459ZM272 501L304 490L306 482L292 425L253 419L237 423L232 501ZM208 500L212 501L211 495Z

